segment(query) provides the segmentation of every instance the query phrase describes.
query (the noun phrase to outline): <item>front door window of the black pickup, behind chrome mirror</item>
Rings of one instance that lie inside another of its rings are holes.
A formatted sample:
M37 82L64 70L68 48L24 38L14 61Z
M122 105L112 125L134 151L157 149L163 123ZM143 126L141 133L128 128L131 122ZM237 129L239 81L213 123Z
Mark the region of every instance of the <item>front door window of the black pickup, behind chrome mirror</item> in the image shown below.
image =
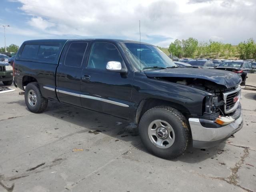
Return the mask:
M94 43L88 60L88 68L106 70L106 65L109 61L124 62L116 46L113 44L102 42Z

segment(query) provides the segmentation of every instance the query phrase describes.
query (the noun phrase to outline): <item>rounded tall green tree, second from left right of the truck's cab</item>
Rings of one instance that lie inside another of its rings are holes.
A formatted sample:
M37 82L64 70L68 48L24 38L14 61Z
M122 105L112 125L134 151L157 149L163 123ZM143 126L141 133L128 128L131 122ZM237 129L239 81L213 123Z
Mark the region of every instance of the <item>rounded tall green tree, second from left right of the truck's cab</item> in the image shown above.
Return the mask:
M182 50L185 57L193 57L197 48L198 40L195 38L188 38L186 40L182 39Z

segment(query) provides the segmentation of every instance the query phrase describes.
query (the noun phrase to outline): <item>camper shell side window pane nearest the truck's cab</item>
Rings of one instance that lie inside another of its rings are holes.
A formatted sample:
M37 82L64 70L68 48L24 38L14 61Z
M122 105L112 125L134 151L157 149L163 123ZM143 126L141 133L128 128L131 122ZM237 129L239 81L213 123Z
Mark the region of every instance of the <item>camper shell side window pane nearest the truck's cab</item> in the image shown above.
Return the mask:
M54 61L60 46L40 45L37 57L42 61Z

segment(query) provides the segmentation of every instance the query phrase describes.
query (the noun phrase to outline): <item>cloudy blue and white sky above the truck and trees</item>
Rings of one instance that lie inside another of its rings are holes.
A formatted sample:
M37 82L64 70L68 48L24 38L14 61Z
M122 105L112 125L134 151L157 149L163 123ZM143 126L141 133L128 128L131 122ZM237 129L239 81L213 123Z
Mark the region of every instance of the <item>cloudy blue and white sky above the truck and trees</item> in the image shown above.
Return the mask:
M6 45L31 39L256 40L256 0L1 0ZM0 28L0 47L4 28Z

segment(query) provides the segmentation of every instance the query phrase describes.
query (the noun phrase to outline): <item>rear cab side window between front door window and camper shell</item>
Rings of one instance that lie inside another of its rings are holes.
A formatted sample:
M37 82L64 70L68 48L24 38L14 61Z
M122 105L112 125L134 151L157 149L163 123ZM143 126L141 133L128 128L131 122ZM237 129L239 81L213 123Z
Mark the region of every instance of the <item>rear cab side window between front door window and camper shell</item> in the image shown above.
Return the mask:
M70 67L80 67L84 58L86 47L86 42L71 43L66 54L64 65Z

